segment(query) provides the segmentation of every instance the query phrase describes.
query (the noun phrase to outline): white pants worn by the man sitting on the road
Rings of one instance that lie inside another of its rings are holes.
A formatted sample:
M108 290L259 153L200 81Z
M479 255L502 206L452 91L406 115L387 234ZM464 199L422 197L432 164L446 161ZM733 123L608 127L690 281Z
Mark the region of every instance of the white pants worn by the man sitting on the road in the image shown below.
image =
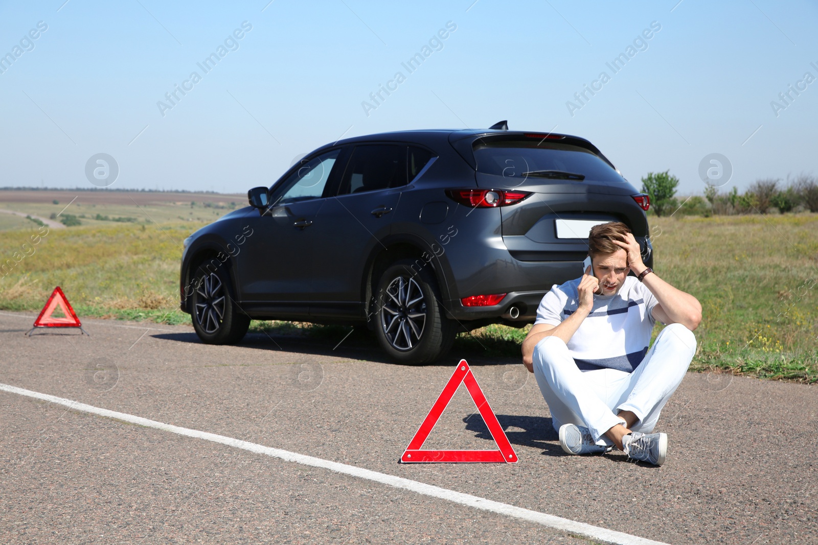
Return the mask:
M649 433L681 384L696 352L696 337L682 324L670 324L633 373L617 369L581 371L559 337L545 337L534 348L534 377L551 410L551 422L587 427L597 444L612 444L605 431L631 411L639 420L632 431Z

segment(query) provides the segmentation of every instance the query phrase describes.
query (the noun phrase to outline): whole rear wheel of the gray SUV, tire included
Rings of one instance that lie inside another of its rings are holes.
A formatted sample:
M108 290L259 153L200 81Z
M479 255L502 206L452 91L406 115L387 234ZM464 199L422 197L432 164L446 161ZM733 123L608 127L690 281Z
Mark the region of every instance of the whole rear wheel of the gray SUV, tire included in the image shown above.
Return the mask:
M375 335L384 351L402 364L427 364L452 347L455 328L446 318L430 267L396 261L375 290Z

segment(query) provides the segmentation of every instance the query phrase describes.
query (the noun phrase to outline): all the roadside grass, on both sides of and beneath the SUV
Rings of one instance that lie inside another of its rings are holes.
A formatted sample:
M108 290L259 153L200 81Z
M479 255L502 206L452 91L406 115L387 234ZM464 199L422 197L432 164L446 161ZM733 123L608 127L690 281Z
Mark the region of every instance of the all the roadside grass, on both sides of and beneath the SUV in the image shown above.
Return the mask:
M97 208L110 217L135 216L133 209ZM203 224L83 221L51 230L34 255L16 263L12 256L21 255L21 245L38 229L20 220L29 227L0 238L0 265L14 264L0 279L0 308L38 311L60 285L81 316L190 323L178 310L179 260L182 239ZM651 226L657 274L703 306L691 369L818 382L818 214L654 217ZM254 322L253 328L327 342L349 331L285 322ZM480 328L461 334L455 351L519 357L527 332Z

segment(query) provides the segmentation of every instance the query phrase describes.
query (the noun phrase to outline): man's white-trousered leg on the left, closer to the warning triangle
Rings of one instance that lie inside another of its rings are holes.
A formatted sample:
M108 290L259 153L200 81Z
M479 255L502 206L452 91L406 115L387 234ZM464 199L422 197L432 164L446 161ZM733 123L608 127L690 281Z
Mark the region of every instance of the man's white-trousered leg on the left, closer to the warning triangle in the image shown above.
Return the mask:
M597 444L610 444L609 441L600 440L600 437L622 420L611 410L613 404L609 406L602 399L604 394L597 395L596 388L591 387L592 382L584 376L587 373L577 368L562 339L545 337L538 342L534 348L533 367L537 385L551 410L555 429L560 424L580 423L591 431ZM622 386L627 387L627 381Z

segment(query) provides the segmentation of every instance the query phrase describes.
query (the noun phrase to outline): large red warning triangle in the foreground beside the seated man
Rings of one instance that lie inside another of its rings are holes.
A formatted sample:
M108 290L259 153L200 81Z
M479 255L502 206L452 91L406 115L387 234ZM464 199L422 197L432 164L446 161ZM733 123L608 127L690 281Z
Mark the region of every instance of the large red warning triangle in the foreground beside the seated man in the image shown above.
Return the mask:
M434 425L438 423L440 415L446 410L449 401L455 395L457 388L465 384L466 390L469 391L471 400L477 405L477 410L480 416L483 417L483 422L486 422L488 432L492 434L492 439L497 444L497 450L423 450L424 441L429 437ZM406 451L401 457L401 462L517 462L517 454L511 448L506 432L497 422L492 408L488 406L488 400L483 395L483 390L480 389L474 374L471 373L469 364L465 360L461 360L457 364L457 369L452 373L452 378L449 379L446 387L440 392L438 400L432 405L432 410L426 416L420 428L412 440L409 442Z

